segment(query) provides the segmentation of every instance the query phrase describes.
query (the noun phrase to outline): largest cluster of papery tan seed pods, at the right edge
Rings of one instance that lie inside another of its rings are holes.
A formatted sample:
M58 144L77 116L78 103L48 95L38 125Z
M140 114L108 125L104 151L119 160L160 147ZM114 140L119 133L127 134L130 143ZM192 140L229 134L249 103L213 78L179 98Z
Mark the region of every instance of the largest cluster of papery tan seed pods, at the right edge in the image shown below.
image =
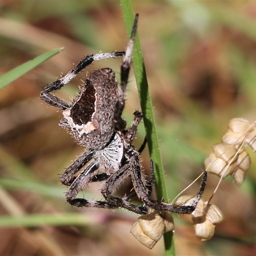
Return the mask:
M205 158L205 169L221 178L231 175L240 187L251 165L251 158L242 147L250 146L256 151L256 124L244 118L231 119L221 141L212 146L213 152Z

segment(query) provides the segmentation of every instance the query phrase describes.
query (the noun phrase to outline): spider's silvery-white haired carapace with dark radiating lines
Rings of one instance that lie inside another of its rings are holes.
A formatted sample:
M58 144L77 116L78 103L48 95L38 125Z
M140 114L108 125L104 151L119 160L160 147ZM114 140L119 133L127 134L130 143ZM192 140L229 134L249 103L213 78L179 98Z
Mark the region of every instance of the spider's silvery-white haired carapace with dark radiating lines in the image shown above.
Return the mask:
M124 157L124 140L122 135L117 132L110 144L95 153L95 158L100 163L99 170L108 175L119 170Z

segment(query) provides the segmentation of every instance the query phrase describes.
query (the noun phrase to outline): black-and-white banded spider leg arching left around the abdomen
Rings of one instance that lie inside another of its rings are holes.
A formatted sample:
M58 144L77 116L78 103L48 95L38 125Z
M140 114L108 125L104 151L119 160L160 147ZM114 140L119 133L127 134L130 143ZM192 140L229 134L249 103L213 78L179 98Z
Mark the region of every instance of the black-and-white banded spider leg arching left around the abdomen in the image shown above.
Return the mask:
M61 110L69 108L70 104L68 102L58 98L50 92L60 90L60 88L68 84L78 73L84 70L84 68L89 66L93 61L123 56L124 53L125 52L109 52L87 55L82 60L80 60L75 68L68 72L66 76L63 76L59 80L56 80L55 82L48 84L46 87L44 87L43 91L40 94L40 98L51 106L60 108Z

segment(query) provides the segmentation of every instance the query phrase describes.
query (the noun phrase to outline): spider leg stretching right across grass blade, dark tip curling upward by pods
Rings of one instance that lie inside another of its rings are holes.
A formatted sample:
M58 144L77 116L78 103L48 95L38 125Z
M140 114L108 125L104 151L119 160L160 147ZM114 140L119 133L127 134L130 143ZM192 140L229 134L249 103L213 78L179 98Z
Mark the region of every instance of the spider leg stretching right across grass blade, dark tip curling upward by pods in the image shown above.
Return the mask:
M207 178L206 171L204 171L204 176L203 176L200 188L197 192L196 199L193 201L193 203L191 205L180 206L180 205L175 205L175 204L167 204L164 202L159 202L159 201L151 199L148 196L148 191L147 191L146 186L143 183L143 176L142 176L142 172L140 170L139 154L135 154L131 158L131 165L132 165L131 177L132 177L132 182L133 182L135 191L137 193L137 196L148 207L155 209L155 210L159 210L159 211L165 210L165 211L169 211L169 212L184 213L184 214L190 214L195 210L197 203L199 202L200 198L203 195L204 188L206 185L206 178Z

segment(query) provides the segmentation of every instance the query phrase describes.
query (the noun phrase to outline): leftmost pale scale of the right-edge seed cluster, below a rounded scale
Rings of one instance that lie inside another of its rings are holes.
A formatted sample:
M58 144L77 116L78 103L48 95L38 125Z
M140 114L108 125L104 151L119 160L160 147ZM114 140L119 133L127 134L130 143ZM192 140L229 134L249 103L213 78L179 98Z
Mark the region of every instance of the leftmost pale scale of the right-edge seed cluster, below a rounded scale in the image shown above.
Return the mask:
M233 173L236 169L236 163L228 165L224 160L215 156L214 153L208 155L204 160L205 170L223 178Z

